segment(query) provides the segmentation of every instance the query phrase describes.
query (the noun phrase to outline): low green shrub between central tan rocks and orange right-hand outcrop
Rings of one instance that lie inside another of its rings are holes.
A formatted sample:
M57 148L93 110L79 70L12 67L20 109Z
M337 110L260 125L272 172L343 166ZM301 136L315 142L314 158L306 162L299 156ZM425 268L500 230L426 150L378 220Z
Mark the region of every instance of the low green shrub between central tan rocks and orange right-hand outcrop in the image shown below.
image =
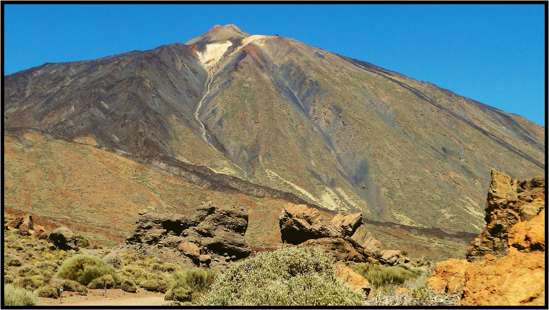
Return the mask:
M377 264L360 263L355 266L355 272L366 278L374 288L384 285L400 285L406 280L416 279L419 270L414 270L404 264L394 267L383 267Z

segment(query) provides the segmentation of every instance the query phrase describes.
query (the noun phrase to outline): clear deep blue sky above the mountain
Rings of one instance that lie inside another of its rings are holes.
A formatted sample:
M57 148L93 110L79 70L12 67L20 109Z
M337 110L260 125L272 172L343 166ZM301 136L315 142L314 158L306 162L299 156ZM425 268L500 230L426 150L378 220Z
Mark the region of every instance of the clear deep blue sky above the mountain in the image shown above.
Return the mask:
M544 5L4 7L4 74L187 42L212 26L279 34L545 126Z

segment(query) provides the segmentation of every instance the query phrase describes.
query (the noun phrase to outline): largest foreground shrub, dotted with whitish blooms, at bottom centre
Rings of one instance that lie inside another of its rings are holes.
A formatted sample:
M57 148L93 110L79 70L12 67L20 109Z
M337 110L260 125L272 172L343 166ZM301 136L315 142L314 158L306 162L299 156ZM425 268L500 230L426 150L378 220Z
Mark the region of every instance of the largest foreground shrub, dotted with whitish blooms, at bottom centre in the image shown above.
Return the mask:
M282 247L234 264L214 280L200 305L356 306L362 296L337 280L332 256Z

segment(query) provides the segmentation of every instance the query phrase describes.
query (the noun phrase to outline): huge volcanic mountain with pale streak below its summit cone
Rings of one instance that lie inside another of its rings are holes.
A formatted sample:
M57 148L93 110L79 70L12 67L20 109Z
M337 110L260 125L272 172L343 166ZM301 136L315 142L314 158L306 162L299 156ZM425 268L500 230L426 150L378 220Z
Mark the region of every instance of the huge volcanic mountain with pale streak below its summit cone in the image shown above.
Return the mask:
M470 233L484 226L492 168L545 174L544 126L234 25L4 76L4 131L29 130L163 171L200 170L237 192Z

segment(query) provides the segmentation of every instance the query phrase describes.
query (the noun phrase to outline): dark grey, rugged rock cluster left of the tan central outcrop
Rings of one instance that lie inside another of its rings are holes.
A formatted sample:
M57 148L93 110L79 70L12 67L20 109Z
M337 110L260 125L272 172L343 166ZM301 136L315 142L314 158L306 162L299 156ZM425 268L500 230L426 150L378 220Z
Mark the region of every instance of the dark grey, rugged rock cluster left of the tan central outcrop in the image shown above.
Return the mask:
M247 229L248 212L243 208L209 201L191 217L142 212L124 248L182 266L226 268L251 253L244 239Z

